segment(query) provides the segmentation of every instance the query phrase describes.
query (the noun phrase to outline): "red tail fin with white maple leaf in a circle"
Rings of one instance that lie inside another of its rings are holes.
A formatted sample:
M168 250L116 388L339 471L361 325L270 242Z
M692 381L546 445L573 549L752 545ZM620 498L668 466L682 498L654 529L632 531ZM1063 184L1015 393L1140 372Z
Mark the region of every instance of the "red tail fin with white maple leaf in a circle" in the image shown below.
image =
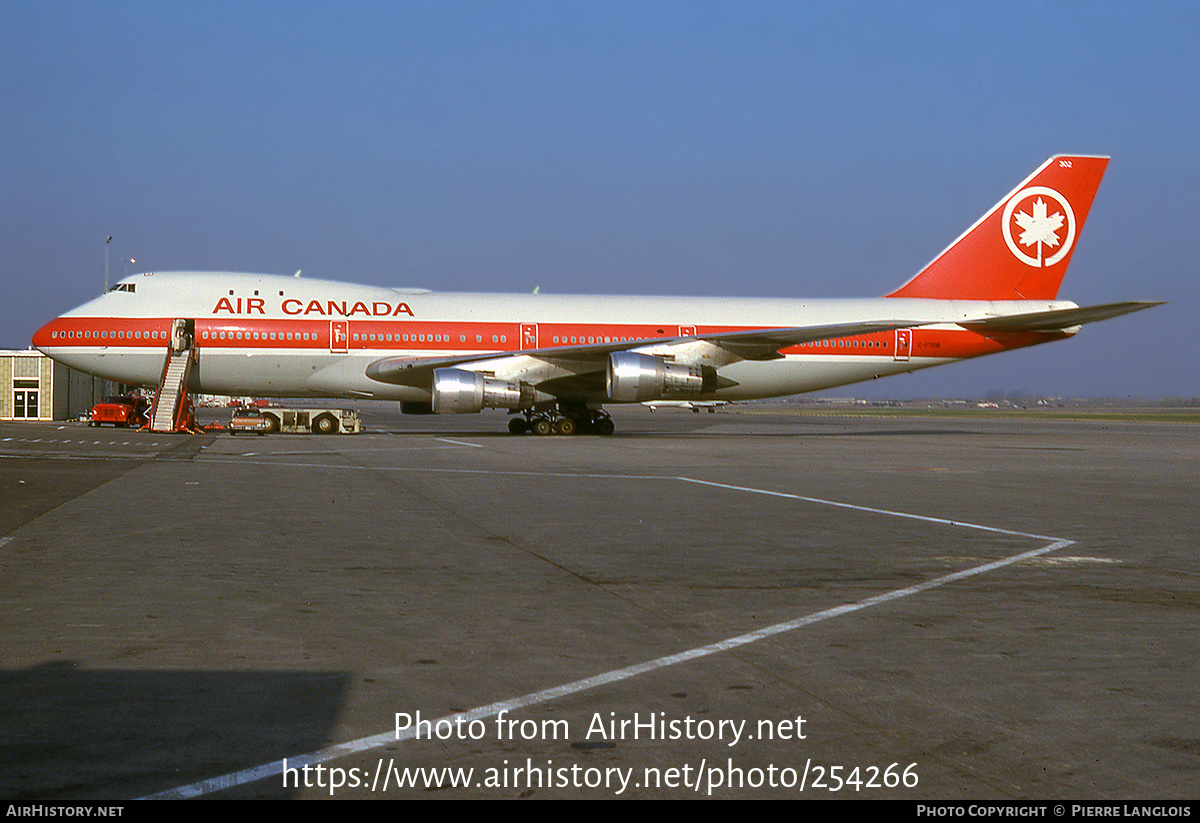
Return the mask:
M887 296L1054 300L1108 164L1108 157L1051 157Z

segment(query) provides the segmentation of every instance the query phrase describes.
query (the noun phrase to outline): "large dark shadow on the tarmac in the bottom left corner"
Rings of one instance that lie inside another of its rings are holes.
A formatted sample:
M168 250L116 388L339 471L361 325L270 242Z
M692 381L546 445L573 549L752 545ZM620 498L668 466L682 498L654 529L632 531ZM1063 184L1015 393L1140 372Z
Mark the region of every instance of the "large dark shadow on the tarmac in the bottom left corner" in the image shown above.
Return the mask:
M347 672L0 672L0 795L121 799L326 745ZM280 779L239 797L287 798Z

